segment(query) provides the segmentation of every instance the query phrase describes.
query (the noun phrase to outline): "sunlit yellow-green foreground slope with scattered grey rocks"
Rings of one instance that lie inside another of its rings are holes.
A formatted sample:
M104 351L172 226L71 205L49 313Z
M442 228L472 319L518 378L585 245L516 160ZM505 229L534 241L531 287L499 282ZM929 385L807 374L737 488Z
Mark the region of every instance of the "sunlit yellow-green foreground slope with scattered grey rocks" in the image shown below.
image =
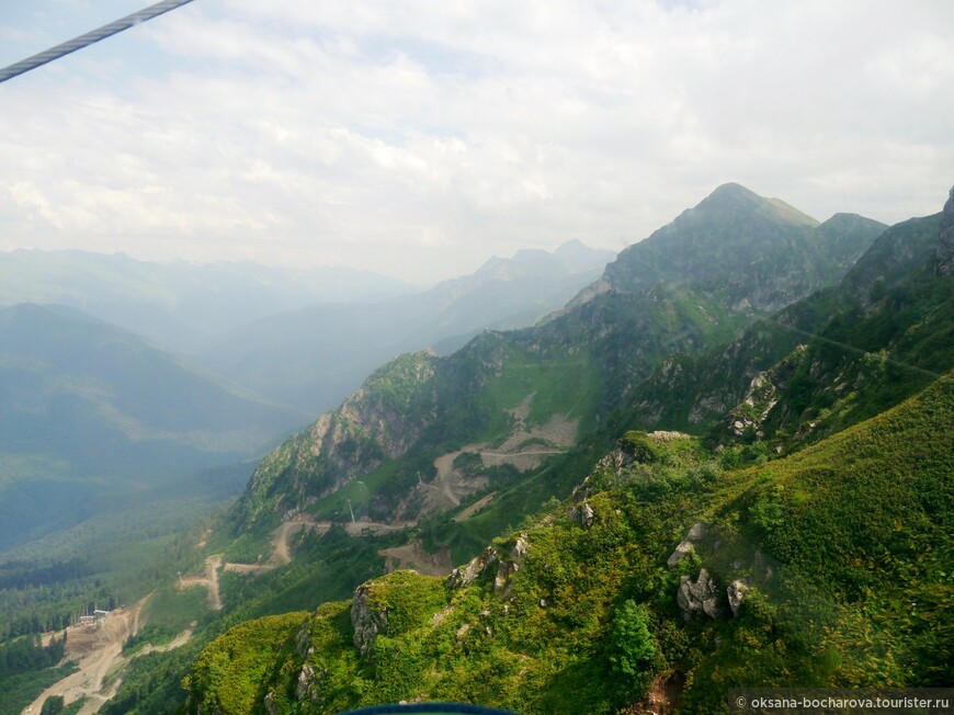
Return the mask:
M665 681L683 683L684 712L713 712L729 686L949 683L951 434L951 374L768 467L720 473L690 440L631 433L569 504L448 579L365 583L284 646L270 621L213 643L189 712L414 699L610 713ZM265 637L275 656L243 667L241 643Z

